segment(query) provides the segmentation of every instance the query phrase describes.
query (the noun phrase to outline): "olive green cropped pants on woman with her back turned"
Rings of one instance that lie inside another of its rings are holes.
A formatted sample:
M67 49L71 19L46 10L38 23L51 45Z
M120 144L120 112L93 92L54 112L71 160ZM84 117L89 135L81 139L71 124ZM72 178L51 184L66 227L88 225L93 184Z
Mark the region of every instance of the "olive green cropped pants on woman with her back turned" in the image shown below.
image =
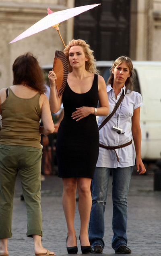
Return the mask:
M27 209L27 236L42 236L42 149L0 144L0 238L12 237L12 210L17 173Z

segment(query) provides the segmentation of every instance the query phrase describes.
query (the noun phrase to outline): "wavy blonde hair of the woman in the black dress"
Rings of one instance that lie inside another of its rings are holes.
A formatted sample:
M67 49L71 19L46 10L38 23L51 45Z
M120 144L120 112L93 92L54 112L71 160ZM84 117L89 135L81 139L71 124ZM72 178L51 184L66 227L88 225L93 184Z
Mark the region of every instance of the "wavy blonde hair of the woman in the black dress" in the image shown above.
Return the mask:
M96 60L93 55L93 50L91 50L90 45L87 44L82 39L77 39L77 40L73 39L72 41L69 42L69 44L66 46L66 48L63 51L68 60L69 72L72 72L72 67L70 66L70 62L69 62L69 50L72 46L77 46L77 45L83 48L85 56L88 58L88 60L85 62L85 69L91 73L99 74L99 70L97 70L96 68Z

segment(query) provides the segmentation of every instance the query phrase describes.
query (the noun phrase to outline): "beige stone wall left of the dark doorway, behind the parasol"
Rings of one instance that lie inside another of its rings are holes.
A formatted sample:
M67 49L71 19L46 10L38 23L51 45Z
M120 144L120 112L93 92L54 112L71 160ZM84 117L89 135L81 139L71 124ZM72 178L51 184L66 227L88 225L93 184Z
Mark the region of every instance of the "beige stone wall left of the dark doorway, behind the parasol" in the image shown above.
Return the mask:
M32 52L41 66L53 63L55 50L64 46L54 28L10 44L15 37L47 15L74 6L74 0L0 0L0 89L12 85L12 64L21 54ZM60 33L64 42L73 37L73 19L64 21Z

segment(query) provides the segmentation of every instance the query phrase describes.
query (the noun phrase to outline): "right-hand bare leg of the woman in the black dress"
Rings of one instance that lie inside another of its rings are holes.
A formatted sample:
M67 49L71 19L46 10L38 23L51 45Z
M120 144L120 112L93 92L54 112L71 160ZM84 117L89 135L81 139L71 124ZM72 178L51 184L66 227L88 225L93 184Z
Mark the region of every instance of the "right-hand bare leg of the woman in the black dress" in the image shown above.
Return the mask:
M92 206L91 179L78 178L78 210L81 218L80 240L82 246L90 246L88 238L88 224Z

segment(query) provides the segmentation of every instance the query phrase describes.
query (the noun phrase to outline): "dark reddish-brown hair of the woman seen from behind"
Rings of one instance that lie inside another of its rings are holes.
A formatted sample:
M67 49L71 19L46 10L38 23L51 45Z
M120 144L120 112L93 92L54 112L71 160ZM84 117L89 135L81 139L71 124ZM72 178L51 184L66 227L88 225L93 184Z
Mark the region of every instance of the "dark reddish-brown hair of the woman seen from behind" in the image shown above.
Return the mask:
M39 93L45 93L44 73L32 53L25 53L15 59L13 66L13 85L24 84Z

